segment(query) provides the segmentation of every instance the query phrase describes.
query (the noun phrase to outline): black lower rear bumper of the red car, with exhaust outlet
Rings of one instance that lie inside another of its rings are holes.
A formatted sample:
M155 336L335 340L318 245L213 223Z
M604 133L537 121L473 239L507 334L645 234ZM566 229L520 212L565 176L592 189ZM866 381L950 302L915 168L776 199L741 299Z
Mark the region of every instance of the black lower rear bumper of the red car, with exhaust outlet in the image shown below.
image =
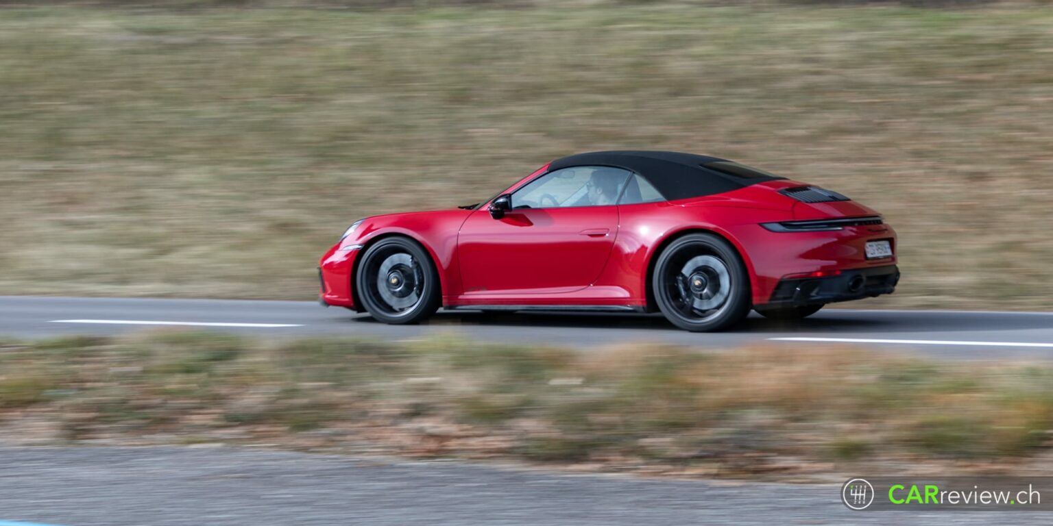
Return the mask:
M896 265L842 270L828 278L780 280L768 307L799 307L892 294L899 283Z

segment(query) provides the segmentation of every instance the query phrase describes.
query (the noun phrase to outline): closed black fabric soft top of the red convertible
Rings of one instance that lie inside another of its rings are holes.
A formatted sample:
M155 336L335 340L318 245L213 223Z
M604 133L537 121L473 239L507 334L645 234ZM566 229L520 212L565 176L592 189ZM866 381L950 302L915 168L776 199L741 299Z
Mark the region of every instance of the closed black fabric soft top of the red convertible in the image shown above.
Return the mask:
M549 169L572 166L614 166L635 171L669 201L712 196L784 179L727 159L678 151L591 151L557 159Z

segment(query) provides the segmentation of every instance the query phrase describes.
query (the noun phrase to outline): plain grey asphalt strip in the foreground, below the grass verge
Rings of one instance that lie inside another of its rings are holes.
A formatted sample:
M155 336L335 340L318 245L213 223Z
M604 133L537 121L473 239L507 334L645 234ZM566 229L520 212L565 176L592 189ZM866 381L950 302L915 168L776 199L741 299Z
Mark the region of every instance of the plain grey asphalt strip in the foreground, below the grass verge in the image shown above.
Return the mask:
M1046 525L1044 512L851 511L840 485L567 476L262 450L0 448L0 525Z

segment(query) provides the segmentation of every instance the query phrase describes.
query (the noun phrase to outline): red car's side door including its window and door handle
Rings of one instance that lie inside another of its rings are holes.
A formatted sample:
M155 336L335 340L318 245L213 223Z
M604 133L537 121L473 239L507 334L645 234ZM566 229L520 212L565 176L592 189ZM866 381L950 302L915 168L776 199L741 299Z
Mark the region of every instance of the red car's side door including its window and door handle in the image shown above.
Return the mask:
M631 173L576 166L539 176L494 219L480 207L457 239L464 294L561 294L599 278L618 232L618 195Z

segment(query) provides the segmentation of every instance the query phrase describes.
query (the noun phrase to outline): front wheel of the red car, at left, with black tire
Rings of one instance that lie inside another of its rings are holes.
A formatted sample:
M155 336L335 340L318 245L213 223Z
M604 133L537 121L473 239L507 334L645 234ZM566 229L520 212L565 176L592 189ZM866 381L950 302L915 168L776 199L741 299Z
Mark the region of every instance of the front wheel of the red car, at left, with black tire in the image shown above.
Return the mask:
M393 325L424 320L442 302L435 263L424 247L408 238L371 245L358 265L355 287L362 307L375 320Z

